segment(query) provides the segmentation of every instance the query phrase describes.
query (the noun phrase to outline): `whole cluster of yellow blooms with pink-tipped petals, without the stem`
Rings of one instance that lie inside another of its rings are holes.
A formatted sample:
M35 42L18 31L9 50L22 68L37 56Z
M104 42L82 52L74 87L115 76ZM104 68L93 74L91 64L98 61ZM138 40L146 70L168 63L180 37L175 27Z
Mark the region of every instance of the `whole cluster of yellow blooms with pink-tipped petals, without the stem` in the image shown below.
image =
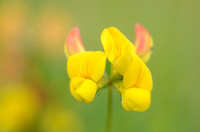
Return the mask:
M65 53L70 92L78 101L91 103L98 90L114 87L121 95L125 110L145 111L151 103L152 76L145 62L150 58L153 42L148 31L135 26L135 45L117 28L101 34L104 51L85 51L78 28L68 35ZM106 59L111 74L106 75Z

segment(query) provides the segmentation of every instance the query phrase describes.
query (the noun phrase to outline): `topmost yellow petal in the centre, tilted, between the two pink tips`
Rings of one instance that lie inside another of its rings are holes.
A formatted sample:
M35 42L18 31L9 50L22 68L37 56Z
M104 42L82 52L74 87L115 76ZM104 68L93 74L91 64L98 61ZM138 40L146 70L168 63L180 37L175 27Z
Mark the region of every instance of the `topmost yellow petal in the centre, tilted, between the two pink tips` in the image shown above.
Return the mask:
M101 42L108 60L114 65L117 72L123 74L131 54L135 52L134 45L115 27L103 30Z

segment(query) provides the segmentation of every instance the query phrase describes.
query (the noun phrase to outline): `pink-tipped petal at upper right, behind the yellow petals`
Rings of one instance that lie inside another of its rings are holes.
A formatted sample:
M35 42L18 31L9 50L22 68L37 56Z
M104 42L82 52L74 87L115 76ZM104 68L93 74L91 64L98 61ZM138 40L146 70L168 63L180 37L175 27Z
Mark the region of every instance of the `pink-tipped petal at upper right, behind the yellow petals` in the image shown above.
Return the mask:
M135 46L138 56L147 62L151 55L153 41L149 32L139 24L135 25Z

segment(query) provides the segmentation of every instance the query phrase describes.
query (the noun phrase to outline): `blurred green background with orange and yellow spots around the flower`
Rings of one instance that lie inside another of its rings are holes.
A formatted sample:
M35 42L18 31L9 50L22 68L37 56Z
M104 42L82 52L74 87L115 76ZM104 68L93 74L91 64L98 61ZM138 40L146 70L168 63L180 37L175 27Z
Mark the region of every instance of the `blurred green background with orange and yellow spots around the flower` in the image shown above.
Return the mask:
M103 51L104 28L133 42L137 23L154 40L152 105L126 112L115 92L113 132L199 132L199 13L199 0L1 0L0 132L104 132L108 91L88 105L70 95L65 37L77 26Z

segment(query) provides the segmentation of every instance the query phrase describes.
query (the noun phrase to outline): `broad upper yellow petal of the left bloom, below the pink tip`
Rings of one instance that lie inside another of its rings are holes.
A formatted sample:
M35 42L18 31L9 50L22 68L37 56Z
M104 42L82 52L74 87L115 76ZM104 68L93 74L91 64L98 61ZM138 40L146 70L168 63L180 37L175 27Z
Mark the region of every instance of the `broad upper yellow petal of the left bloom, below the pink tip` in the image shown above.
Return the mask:
M106 56L101 51L87 51L69 57L67 72L69 78L83 77L98 82L104 74Z

